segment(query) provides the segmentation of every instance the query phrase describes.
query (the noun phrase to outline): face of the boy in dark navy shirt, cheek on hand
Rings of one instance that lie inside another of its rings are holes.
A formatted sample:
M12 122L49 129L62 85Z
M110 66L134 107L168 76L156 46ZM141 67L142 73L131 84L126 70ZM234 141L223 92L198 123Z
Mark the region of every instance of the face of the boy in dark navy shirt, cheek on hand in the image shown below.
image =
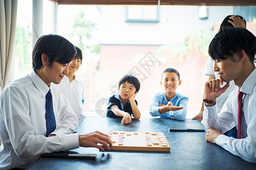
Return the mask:
M129 99L129 97L135 94L136 88L133 84L125 82L122 83L119 88L119 95L121 99Z

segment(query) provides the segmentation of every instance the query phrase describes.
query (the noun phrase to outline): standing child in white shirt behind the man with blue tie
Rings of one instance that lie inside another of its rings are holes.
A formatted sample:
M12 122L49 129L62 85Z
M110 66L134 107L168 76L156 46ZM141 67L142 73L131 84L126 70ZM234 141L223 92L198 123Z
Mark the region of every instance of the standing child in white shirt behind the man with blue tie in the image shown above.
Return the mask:
M75 46L76 56L73 58L71 65L68 67L68 74L64 76L60 84L58 84L60 92L67 97L79 122L84 120L84 82L77 78L75 73L79 70L82 63L82 51Z

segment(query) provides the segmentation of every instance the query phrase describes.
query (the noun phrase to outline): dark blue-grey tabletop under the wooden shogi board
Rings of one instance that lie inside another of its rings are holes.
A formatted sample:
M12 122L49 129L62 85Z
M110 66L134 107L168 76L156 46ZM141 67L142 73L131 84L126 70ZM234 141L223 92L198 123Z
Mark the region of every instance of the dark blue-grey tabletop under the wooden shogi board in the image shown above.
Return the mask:
M197 120L177 121L166 118L141 118L120 125L121 119L88 117L79 124L80 134L91 131L160 131L166 136L171 152L110 151L104 161L40 158L28 169L256 169L256 164L230 154L224 148L205 141L205 132L170 132L168 128L198 128ZM85 148L75 151L84 152Z

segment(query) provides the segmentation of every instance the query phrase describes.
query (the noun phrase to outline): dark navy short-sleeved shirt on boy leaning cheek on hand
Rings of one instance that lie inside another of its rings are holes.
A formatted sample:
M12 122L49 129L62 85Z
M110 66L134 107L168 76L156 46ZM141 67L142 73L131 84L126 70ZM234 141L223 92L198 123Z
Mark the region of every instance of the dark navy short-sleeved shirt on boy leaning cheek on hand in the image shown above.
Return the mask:
M121 111L124 111L124 112L127 112L129 113L130 115L133 114L133 110L131 109L131 104L130 102L128 101L124 106L123 106L123 110L122 110L122 107L121 107L121 102L119 99L115 98L115 95L113 95L112 97L109 98L109 103L108 103L108 112L107 112L107 115L106 117L120 117L120 116L117 116L115 115L115 113L112 112L111 110L111 107L112 105L117 105L117 107L121 110ZM135 103L138 105L138 102L135 100Z

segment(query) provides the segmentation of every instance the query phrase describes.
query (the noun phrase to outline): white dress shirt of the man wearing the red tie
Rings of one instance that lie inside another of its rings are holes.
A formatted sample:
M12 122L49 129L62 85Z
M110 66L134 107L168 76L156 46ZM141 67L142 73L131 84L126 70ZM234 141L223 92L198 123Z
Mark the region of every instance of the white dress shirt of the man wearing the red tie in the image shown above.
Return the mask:
M216 144L242 159L256 163L256 69L246 78L240 89L243 95L241 118L242 139L219 135ZM234 122L238 125L238 87L229 95L220 113L216 105L204 105L203 122L206 129L214 128L221 133L230 129Z

